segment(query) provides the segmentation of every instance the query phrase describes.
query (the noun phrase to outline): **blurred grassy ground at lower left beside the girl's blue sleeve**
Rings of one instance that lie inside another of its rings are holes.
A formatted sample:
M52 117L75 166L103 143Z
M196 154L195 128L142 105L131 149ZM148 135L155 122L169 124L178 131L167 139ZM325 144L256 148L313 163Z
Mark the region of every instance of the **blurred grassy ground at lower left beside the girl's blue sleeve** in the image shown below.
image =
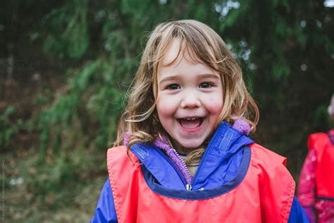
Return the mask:
M34 150L1 157L5 160L4 222L89 222L94 215L107 178L105 152L92 157L89 151L70 151L71 169L60 172L61 158L49 156L46 164L39 164Z

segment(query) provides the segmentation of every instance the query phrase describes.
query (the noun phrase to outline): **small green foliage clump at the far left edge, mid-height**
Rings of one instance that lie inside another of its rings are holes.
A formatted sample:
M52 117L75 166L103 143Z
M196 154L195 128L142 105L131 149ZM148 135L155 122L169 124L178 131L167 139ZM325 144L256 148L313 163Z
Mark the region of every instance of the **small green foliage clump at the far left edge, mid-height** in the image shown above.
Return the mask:
M0 147L6 147L11 140L23 128L23 121L18 119L13 121L11 116L16 113L16 108L8 106L3 113L0 114Z

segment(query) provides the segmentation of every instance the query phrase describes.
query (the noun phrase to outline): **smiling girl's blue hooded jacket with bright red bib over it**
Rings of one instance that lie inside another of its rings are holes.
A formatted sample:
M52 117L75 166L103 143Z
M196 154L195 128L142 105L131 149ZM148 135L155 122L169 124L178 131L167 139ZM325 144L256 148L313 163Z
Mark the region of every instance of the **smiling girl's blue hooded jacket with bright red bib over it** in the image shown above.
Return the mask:
M92 222L308 222L285 158L227 123L211 139L192 191L157 147L108 150L109 179Z

